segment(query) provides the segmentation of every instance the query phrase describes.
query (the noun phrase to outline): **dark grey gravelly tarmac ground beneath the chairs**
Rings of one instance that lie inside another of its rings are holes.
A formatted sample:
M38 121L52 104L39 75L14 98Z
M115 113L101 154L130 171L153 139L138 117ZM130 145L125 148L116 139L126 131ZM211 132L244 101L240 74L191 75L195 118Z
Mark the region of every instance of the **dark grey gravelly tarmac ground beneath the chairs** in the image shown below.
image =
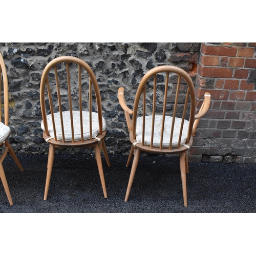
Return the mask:
M178 157L141 156L128 202L124 196L131 168L125 167L126 156L111 156L111 167L102 157L105 199L93 156L56 154L46 201L48 156L18 158L24 172L9 155L3 162L14 205L1 182L0 212L256 212L256 164L189 163L184 207Z

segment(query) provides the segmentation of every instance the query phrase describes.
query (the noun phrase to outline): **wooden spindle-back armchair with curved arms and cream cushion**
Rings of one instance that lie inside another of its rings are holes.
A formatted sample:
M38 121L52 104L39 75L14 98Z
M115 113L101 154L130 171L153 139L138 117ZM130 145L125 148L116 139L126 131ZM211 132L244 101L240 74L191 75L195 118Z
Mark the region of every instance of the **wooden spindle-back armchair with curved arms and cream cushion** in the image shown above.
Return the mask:
M207 112L210 94L197 115L193 81L182 69L159 66L142 78L131 110L118 90L119 103L124 110L132 147L126 167L134 154L125 200L130 195L141 151L156 154L179 154L184 205L187 206L186 173L187 150L192 145L199 119ZM131 121L132 116L132 121Z

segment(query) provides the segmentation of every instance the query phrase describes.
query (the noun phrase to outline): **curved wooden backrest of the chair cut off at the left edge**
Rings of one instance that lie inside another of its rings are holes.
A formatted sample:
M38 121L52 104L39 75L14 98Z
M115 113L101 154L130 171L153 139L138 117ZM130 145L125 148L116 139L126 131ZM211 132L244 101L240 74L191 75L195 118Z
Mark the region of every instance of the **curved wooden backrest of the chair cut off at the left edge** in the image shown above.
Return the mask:
M5 67L5 61L0 53L0 93L2 95L2 77L3 77L3 89L4 89L4 110L5 110L5 125L8 126L9 123L9 90L8 90L8 77ZM1 101L1 95L0 95L0 105L2 109L2 101ZM2 111L0 115L0 121L2 122Z

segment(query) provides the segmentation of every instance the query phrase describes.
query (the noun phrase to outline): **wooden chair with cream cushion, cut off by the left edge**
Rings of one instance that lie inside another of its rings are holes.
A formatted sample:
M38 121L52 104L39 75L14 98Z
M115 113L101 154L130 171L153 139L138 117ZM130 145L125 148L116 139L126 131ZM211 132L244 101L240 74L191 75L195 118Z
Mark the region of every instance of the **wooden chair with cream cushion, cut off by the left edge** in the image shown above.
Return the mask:
M2 83L2 77L3 77L3 83ZM4 103L2 104L2 84L3 84L3 99ZM0 97L0 105L1 105L1 115L0 115L0 147L5 146L5 150L0 158L0 178L3 182L5 192L7 195L7 198L9 200L10 205L13 205L12 202L12 197L10 194L10 189L7 184L5 172L4 172L4 167L3 167L3 161L9 152L18 165L18 167L23 171L22 165L19 163L18 158L16 157L11 145L8 142L8 138L11 134L11 129L8 126L9 122L9 92L8 92L8 78L7 78L7 72L6 72L6 67L5 67L5 62L3 59L2 54L0 53L0 92L1 92L1 97ZM4 118L2 118L2 108L4 110Z

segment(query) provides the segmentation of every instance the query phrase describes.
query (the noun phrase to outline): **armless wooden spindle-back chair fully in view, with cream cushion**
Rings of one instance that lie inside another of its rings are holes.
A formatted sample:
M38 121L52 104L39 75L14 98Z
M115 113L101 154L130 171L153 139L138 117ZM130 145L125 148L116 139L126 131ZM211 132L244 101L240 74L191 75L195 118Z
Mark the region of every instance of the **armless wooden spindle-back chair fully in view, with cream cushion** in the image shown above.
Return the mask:
M48 95L48 97L46 97ZM101 149L110 166L104 143L106 121L101 95L90 66L72 56L53 59L40 83L41 128L49 145L44 200L47 200L55 148L94 147L104 197L107 198Z

